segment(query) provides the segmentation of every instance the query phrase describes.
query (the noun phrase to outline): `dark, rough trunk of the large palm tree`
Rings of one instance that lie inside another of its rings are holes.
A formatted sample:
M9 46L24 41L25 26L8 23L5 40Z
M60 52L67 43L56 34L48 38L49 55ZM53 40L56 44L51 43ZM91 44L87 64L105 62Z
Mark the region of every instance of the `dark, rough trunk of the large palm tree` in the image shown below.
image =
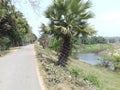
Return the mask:
M59 56L59 60L58 60L58 65L61 66L66 66L67 64L67 60L70 54L70 36L64 36L63 37L63 44L62 44L62 48L61 48L61 54Z

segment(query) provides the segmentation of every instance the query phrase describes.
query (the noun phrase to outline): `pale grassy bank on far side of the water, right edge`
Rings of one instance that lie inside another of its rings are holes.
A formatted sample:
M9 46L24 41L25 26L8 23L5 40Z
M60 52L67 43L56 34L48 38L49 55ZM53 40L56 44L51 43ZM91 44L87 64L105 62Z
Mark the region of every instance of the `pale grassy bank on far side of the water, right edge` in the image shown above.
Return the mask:
M110 48L99 53L105 67L111 63L115 71L120 71L120 43L114 43Z

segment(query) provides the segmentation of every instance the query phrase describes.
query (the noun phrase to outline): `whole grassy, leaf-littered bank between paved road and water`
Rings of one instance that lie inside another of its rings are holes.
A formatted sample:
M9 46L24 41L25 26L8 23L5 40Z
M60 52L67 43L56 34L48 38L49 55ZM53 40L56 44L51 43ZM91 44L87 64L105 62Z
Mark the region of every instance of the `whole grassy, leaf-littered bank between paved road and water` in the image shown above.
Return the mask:
M57 53L35 46L47 90L119 90L120 73L92 66L70 57L68 65L56 66ZM98 89L99 88L99 89Z

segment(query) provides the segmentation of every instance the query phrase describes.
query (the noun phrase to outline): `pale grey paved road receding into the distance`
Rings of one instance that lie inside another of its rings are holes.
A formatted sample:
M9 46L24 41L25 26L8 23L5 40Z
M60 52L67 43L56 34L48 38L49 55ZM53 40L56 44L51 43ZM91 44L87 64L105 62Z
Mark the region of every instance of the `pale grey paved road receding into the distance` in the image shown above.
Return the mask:
M0 90L40 90L33 45L0 58Z

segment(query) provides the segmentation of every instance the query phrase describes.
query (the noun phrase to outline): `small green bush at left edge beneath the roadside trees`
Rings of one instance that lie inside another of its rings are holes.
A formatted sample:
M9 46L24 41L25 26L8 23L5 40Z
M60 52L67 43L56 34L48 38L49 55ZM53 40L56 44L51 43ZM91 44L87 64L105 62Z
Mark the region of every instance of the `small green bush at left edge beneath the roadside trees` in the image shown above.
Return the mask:
M0 51L7 50L10 47L10 39L8 37L0 38Z

